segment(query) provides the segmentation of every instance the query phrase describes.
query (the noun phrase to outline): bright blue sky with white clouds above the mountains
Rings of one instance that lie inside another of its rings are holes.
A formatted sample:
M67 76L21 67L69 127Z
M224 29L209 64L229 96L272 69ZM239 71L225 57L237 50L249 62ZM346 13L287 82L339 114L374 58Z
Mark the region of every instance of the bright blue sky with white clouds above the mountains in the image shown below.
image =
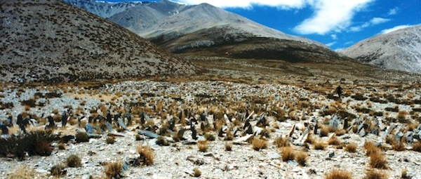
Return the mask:
M286 34L320 41L333 50L392 29L421 24L421 0L172 1L208 3Z

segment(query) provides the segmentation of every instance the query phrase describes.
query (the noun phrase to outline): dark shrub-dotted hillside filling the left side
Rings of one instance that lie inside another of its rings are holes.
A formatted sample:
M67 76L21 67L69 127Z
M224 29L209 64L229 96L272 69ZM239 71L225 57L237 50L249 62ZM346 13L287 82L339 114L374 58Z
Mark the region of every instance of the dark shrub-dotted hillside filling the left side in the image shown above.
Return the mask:
M1 82L80 81L191 74L133 32L58 0L2 1Z

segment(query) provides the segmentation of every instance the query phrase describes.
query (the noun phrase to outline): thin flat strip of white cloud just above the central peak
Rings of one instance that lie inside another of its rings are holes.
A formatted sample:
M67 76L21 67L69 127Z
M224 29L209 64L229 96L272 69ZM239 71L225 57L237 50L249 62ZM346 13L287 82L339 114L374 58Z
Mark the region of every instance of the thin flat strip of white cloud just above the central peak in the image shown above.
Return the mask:
M307 1L312 0L178 0L180 2L194 5L207 3L220 8L250 8L253 5L258 6L276 6L279 8L302 8L305 6Z

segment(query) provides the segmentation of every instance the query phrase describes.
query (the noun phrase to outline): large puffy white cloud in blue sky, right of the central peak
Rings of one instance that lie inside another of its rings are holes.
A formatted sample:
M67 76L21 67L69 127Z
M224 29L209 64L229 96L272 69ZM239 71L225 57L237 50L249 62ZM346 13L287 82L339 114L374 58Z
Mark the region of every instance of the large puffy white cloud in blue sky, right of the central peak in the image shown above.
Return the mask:
M361 11L368 3L374 0L320 0L313 6L315 13L295 27L300 34L326 34L328 32L341 32L351 25L354 14Z

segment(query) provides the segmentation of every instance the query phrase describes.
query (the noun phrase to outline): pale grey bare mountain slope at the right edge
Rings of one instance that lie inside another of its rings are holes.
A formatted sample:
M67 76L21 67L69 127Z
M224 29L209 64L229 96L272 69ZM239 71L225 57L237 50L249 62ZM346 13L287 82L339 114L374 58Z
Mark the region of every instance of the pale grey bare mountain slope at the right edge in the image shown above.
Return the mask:
M421 73L421 25L380 34L340 51L385 69Z

